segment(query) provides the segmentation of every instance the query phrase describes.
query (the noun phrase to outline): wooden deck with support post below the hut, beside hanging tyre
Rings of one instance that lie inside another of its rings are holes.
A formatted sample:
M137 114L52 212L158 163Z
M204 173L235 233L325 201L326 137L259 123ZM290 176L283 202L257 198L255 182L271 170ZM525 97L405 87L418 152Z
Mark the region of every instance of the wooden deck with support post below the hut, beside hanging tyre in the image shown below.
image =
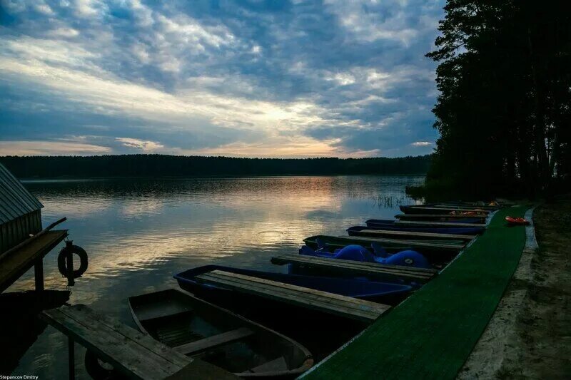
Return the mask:
M14 252L0 257L0 292L4 292L16 279L36 266L36 289L44 285L44 256L67 236L67 230L51 230Z

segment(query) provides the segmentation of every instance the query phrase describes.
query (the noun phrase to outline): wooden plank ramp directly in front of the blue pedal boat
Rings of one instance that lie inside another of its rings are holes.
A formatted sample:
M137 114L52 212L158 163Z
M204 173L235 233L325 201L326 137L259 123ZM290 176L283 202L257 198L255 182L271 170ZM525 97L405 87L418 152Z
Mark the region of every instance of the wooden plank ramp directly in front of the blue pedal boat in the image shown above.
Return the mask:
M404 267L400 265L384 265L373 262L358 262L352 260L326 259L305 255L283 255L272 257L271 262L277 265L295 264L313 269L324 269L347 275L368 277L390 277L408 281L427 282L435 274L436 269Z

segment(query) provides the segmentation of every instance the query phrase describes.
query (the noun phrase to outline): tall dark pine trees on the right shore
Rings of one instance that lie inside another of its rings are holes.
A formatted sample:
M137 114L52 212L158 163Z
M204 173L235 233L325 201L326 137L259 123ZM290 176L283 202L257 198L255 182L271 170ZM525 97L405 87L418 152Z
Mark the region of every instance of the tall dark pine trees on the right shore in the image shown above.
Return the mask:
M571 1L448 0L427 195L571 188ZM567 189L567 190L565 190Z

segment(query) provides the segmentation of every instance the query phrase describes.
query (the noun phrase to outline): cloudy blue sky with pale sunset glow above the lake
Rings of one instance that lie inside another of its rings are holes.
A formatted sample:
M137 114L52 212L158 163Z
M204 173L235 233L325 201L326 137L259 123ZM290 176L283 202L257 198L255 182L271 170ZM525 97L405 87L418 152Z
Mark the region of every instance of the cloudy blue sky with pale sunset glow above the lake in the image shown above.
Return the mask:
M0 155L431 153L444 0L0 0Z

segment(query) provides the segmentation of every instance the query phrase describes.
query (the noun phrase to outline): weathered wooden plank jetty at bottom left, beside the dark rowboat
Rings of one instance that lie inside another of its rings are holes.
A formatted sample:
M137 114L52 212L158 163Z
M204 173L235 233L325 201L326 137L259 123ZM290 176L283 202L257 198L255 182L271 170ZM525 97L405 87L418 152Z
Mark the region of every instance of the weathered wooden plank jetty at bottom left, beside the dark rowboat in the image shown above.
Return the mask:
M75 341L130 379L237 379L82 304L46 310L40 317L69 337L70 379Z

